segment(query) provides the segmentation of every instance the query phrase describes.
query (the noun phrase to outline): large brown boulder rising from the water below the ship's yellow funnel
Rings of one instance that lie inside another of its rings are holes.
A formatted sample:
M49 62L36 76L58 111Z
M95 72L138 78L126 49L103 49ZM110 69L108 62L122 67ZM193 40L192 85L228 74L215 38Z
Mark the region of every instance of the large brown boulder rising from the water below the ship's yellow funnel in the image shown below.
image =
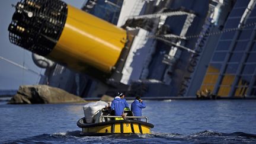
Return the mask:
M85 103L81 97L48 85L21 85L8 104Z

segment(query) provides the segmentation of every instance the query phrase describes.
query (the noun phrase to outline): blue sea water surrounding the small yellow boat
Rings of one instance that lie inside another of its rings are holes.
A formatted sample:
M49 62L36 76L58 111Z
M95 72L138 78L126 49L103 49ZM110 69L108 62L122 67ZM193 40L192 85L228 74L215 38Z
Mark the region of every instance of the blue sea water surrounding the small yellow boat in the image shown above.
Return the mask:
M256 100L145 101L152 135L97 137L79 136L84 104L5 103L0 143L256 143Z

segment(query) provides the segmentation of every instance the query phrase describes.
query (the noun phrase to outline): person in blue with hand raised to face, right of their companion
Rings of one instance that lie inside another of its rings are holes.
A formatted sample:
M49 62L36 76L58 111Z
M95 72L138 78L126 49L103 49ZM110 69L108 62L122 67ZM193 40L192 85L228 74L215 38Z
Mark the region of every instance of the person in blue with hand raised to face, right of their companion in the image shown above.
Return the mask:
M145 108L146 104L140 99L140 96L137 96L133 103L131 104L131 110L133 112L133 116L142 116L142 108ZM140 120L140 119L137 119Z

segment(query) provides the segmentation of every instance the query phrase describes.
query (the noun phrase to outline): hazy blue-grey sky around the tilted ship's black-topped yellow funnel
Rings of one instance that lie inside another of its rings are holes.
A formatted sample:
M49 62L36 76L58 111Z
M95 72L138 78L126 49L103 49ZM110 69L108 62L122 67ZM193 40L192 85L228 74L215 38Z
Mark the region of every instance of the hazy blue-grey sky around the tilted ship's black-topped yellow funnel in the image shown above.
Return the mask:
M81 8L86 0L63 0L67 4L76 8ZM15 8L11 4L17 4L18 0L0 1L0 57L11 60L12 62L24 65L37 73L44 74L44 69L34 65L31 58L31 52L15 46L9 42L8 25L11 23L12 14ZM40 75L26 71L18 66L0 59L0 90L18 89L20 85L33 85L39 82Z

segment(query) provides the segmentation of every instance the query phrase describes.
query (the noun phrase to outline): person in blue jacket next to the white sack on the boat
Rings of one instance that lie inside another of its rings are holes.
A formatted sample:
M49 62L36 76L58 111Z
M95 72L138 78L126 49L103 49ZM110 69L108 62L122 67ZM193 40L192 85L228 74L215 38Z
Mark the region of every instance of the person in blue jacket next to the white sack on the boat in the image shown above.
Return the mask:
M126 102L126 99L124 99L124 94L121 92L117 93L117 96L114 98L114 100L111 103L111 110L114 110L115 116L122 116L124 117L124 108L129 109L129 105ZM116 120L123 120L123 119L116 119Z

